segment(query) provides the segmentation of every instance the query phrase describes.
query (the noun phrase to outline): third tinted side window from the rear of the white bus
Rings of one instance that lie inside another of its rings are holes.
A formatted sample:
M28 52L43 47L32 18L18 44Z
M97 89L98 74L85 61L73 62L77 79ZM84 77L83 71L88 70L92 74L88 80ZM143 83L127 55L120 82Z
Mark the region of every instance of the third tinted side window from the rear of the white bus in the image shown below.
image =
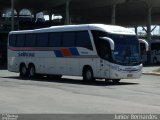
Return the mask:
M35 47L36 44L36 34L27 34L26 35L26 47Z

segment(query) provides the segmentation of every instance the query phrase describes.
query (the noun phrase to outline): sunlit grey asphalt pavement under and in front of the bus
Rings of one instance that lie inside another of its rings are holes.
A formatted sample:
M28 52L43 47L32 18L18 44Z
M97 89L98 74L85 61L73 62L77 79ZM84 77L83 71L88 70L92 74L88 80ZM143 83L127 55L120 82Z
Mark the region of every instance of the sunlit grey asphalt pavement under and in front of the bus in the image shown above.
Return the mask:
M17 73L1 70L0 113L159 114L159 91L160 77L154 75L113 84L104 80L84 83L81 77L72 76L22 80Z

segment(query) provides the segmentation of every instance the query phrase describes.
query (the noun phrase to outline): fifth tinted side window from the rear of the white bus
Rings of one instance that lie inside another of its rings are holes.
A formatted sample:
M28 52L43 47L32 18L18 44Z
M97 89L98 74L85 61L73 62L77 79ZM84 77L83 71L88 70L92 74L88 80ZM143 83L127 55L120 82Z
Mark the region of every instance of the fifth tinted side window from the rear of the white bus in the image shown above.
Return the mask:
M49 34L49 46L60 47L61 46L61 33L50 33Z

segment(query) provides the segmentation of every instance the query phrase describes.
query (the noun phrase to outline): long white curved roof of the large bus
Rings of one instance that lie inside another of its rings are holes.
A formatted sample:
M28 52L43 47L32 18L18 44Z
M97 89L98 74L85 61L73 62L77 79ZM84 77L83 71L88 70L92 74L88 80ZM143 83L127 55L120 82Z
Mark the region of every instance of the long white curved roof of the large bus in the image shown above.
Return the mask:
M41 32L60 32L60 31L78 31L78 30L100 30L111 34L124 34L124 35L135 35L132 30L115 25L105 24L82 24L82 25L62 25L52 26L48 28L34 29L34 30L21 30L12 31L10 34L24 34L24 33L41 33Z

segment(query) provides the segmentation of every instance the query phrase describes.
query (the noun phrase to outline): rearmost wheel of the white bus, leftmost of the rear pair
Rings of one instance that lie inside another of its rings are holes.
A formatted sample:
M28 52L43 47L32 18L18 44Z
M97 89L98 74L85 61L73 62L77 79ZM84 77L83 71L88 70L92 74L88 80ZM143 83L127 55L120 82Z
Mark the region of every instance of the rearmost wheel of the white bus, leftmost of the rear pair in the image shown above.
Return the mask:
M25 64L20 65L19 69L20 77L25 78L28 76L28 69Z

